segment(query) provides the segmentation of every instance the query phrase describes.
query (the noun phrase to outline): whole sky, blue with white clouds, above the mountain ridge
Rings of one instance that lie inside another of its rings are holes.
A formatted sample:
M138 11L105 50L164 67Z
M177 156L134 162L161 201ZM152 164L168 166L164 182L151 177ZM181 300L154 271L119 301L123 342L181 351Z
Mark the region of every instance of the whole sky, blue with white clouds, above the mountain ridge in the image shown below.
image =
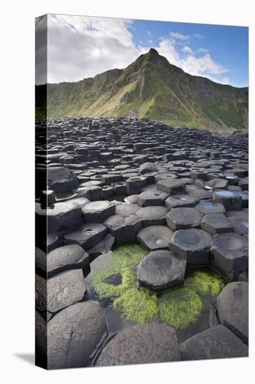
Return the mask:
M248 85L247 27L73 15L48 15L47 26L47 82L78 81L125 68L154 47L191 75ZM42 29L39 23L39 34Z

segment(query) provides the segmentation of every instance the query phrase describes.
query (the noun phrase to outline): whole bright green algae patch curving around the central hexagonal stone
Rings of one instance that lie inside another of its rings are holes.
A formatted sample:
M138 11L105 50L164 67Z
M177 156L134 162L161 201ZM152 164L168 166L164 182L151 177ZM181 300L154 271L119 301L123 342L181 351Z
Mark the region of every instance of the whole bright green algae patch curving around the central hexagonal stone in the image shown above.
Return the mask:
M112 253L105 269L92 276L92 285L99 299L113 298L114 308L123 318L135 323L149 323L160 318L172 327L185 329L201 316L205 295L219 295L224 288L221 276L208 269L195 269L185 280L185 286L157 295L137 284L137 265L147 252L137 244L119 246ZM115 286L107 279L121 275Z

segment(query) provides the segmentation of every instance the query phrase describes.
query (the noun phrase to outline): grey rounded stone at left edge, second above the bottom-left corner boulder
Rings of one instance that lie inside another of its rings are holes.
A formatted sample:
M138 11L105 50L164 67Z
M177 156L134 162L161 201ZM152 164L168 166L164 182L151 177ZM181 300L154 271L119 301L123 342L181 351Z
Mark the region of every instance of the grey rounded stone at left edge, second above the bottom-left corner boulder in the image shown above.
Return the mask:
M78 244L60 246L47 253L47 276L52 277L68 269L84 268L88 264L89 256L82 246Z

